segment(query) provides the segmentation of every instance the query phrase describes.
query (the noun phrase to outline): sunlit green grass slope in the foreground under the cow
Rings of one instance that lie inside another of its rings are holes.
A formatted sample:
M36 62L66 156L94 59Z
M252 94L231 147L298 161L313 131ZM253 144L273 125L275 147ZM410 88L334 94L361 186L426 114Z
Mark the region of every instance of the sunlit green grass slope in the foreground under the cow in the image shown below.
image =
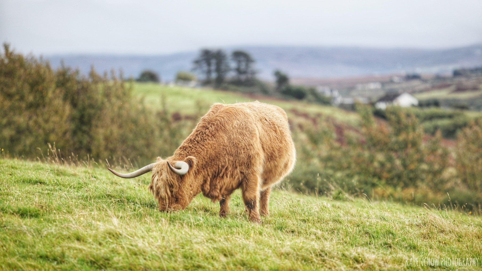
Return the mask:
M226 218L202 196L161 213L149 177L0 159L0 270L433 269L405 266L422 257L482 265L473 215L275 191L271 216L256 225L239 192Z

